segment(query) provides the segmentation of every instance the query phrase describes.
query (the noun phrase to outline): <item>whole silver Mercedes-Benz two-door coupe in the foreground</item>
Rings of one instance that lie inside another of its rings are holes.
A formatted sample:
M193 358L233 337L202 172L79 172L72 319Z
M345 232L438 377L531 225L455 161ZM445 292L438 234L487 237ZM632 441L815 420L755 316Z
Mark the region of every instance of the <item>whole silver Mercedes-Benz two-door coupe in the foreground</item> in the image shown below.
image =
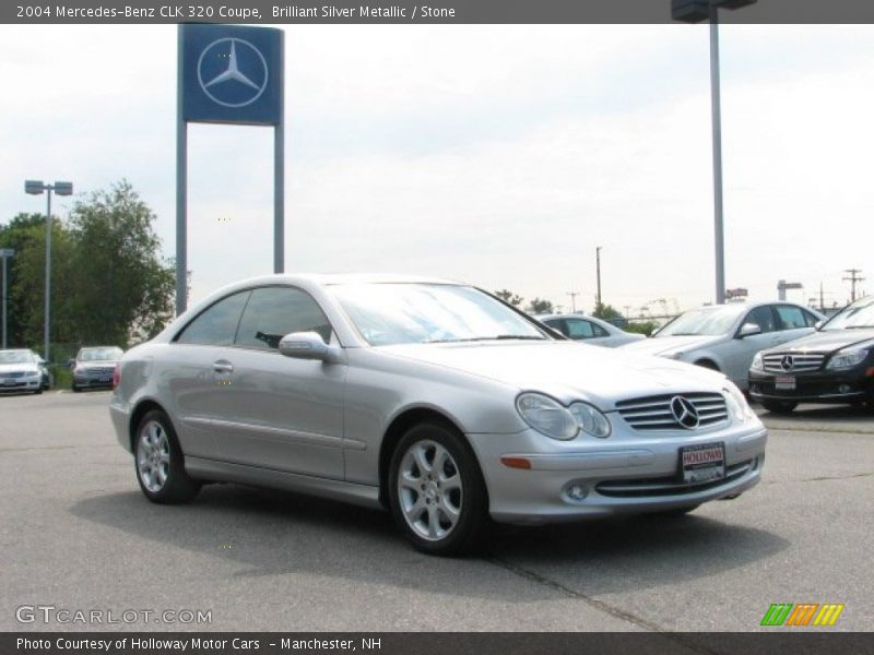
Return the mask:
M389 508L417 548L488 519L682 513L758 483L767 432L724 376L550 334L462 284L269 276L129 350L110 404L145 496L205 481Z

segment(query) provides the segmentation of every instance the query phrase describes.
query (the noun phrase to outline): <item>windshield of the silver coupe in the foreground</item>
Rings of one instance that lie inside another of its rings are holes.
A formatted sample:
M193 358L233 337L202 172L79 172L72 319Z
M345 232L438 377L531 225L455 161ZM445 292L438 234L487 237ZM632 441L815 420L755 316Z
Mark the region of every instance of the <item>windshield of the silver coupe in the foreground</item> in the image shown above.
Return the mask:
M451 284L344 284L331 290L371 346L552 338L473 287Z

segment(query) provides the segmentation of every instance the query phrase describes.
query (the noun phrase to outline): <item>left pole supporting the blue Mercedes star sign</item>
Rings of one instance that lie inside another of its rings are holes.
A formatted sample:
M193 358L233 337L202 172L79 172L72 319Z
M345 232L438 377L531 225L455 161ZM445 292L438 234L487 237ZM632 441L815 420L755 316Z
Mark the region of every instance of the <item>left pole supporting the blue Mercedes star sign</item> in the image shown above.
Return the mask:
M178 57L179 71L185 63L185 26L179 25ZM177 75L176 88L176 315L188 305L188 123L182 115L182 94L185 83L181 73Z

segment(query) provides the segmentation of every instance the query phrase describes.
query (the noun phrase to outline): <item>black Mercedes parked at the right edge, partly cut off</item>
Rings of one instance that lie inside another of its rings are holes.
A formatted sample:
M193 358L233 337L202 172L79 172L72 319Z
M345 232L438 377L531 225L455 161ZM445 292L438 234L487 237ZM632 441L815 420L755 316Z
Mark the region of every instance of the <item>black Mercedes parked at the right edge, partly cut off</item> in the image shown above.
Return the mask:
M874 296L849 305L808 336L757 354L749 395L776 413L799 403L874 405Z

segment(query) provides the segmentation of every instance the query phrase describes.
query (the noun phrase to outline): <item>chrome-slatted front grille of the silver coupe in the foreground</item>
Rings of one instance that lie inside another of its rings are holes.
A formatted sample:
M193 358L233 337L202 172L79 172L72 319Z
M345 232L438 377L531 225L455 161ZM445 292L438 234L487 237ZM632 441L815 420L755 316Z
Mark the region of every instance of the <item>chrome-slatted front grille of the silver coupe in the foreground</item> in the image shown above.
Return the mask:
M721 424L729 418L725 397L721 393L672 393L630 401L619 401L616 409L635 430L685 430L671 410L671 401L681 396L688 400L698 412L698 427Z

